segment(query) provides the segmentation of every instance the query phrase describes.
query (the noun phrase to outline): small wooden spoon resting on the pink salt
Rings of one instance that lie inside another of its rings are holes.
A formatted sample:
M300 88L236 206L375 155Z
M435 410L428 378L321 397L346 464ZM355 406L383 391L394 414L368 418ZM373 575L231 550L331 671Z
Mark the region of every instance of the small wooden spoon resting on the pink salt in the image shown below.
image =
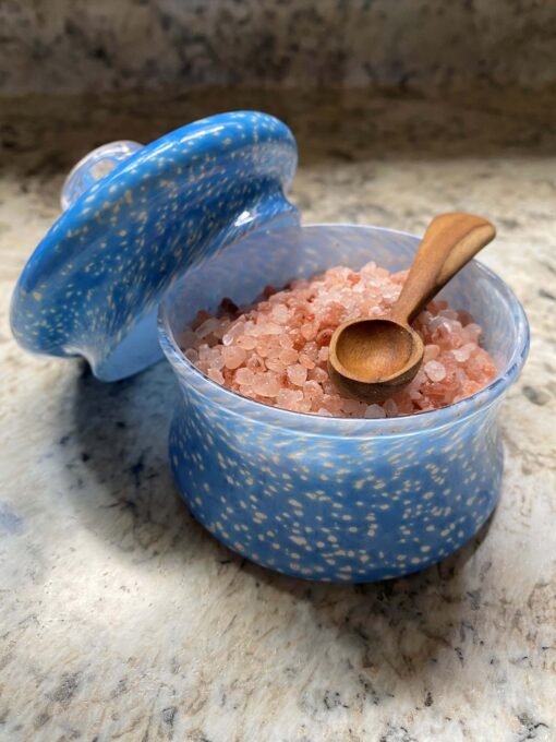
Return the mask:
M489 222L472 214L440 214L431 222L389 314L350 320L334 333L328 371L342 394L384 402L410 383L424 352L410 323L495 235Z

